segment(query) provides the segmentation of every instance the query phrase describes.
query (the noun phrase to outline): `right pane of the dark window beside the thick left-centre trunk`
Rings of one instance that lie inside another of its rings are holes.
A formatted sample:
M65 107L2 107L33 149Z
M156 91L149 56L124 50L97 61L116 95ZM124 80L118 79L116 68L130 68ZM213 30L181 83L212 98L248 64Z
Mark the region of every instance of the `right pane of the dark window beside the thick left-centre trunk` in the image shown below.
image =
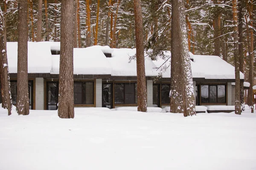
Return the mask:
M83 82L83 104L93 105L93 82Z

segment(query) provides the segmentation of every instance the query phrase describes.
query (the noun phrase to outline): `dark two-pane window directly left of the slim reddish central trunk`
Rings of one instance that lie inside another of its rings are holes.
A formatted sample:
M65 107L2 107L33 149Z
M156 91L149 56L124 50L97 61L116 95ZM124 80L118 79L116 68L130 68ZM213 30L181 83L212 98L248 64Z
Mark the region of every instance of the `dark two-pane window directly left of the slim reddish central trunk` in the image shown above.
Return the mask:
M137 83L115 83L115 104L136 104Z

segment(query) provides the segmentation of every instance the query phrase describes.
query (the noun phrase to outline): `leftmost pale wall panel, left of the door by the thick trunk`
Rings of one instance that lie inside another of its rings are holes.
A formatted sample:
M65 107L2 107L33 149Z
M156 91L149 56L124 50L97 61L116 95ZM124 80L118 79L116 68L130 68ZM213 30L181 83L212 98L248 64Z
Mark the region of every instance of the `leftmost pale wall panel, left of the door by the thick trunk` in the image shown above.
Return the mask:
M44 78L35 78L35 109L44 110Z

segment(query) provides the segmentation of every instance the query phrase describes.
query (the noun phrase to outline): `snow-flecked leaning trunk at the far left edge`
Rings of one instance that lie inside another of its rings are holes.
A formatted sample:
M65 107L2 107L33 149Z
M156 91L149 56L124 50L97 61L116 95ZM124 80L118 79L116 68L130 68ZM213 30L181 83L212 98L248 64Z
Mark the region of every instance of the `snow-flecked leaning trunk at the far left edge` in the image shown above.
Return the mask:
M7 1L4 0L4 13L3 19L0 20L2 23L1 32L0 34L0 57L1 57L1 93L2 93L2 107L7 108L8 115L11 115L12 111L12 100L11 100L11 85L10 85L10 77L9 77L9 66L7 60L7 51L6 51L6 44L7 44L7 27L6 27L6 15L7 15Z

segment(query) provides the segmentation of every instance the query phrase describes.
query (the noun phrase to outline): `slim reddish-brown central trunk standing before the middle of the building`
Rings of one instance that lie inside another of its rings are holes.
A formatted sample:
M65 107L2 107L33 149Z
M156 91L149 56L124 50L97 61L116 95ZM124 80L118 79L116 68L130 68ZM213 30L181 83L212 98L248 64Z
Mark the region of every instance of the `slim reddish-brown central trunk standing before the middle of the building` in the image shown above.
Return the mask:
M135 17L135 37L136 37L136 59L137 59L137 91L138 91L138 111L147 111L147 87L144 60L143 41L143 20L141 1L134 0Z

